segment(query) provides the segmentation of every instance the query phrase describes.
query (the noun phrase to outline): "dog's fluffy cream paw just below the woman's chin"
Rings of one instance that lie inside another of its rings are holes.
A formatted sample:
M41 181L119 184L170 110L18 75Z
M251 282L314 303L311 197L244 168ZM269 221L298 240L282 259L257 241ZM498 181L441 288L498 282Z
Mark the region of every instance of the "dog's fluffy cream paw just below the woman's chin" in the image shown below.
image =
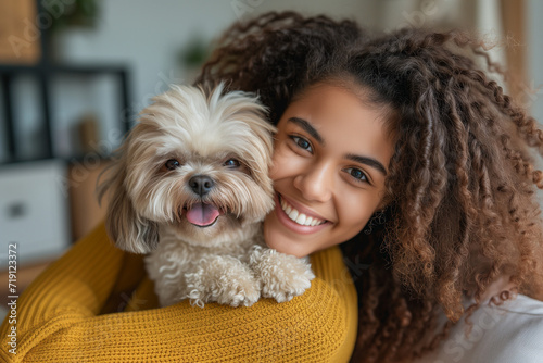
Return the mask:
M262 283L262 296L277 302L290 301L304 293L315 278L307 259L298 259L266 248L254 249L251 267Z

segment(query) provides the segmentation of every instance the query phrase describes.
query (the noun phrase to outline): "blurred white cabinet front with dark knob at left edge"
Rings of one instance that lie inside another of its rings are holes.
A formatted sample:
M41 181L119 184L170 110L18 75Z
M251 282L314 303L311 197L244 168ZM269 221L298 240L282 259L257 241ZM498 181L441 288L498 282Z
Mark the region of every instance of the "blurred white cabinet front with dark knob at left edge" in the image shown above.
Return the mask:
M70 246L66 163L45 160L0 166L0 271L8 245L17 265L55 259Z

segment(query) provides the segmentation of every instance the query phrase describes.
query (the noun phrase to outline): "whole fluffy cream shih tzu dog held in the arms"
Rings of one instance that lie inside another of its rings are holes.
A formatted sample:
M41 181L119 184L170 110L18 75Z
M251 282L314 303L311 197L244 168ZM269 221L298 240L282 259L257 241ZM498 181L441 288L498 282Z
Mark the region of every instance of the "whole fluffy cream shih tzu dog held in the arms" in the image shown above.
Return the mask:
M306 259L266 248L274 205L275 128L250 93L173 86L153 99L99 183L105 227L123 250L149 253L161 305L184 299L250 306L303 293Z

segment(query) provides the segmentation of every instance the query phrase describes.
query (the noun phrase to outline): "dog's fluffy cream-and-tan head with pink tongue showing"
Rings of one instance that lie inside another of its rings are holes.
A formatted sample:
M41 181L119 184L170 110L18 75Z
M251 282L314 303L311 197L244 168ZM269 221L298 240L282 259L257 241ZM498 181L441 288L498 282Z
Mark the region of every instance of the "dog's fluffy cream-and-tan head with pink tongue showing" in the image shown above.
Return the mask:
M274 127L254 98L222 91L173 87L142 111L99 186L112 191L106 227L119 248L149 252L162 228L218 246L273 209Z

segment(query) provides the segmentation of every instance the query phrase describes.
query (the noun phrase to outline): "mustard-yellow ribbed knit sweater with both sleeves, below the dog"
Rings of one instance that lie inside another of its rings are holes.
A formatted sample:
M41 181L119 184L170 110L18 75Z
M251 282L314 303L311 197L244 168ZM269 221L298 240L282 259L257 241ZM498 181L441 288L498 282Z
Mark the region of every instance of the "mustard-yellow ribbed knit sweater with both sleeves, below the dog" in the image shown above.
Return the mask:
M311 261L317 277L290 302L157 309L142 258L113 247L101 225L20 297L16 324L0 329L0 361L346 362L356 291L338 248Z

